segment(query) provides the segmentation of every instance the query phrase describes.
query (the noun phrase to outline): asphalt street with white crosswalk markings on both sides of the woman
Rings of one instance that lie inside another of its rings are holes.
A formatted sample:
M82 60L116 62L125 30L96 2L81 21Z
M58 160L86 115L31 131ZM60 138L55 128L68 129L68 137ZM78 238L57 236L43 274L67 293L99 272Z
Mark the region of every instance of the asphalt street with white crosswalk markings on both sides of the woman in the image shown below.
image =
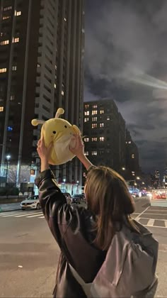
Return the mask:
M167 208L136 199L134 217L159 240L159 289L167 297ZM52 297L59 248L41 211L0 214L0 297Z

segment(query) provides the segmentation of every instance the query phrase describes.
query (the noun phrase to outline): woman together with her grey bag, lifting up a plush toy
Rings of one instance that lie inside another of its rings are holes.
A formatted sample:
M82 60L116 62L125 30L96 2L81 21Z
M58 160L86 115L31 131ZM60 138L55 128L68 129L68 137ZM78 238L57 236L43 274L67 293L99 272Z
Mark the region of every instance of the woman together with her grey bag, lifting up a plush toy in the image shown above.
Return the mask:
M81 136L70 150L88 170L87 209L67 204L48 164L50 148L38 141L41 173L35 183L61 250L54 297L154 297L158 243L130 217L134 202L125 180L109 167L94 167Z

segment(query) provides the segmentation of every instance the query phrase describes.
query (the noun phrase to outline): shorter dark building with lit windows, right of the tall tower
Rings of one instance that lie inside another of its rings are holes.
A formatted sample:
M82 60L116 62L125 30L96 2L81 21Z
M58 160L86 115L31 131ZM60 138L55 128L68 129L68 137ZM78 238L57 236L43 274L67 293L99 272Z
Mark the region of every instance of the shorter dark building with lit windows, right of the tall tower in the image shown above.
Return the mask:
M84 143L95 165L125 167L125 120L112 99L84 103Z

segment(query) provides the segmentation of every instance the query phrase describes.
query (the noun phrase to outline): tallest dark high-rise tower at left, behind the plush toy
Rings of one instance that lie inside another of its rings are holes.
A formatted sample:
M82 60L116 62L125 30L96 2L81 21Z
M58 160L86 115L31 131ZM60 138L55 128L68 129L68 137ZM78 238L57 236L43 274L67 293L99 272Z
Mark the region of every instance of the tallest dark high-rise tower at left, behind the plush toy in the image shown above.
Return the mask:
M0 158L36 162L40 127L31 120L64 118L82 128L84 0L0 0ZM57 178L81 180L78 161L55 168Z

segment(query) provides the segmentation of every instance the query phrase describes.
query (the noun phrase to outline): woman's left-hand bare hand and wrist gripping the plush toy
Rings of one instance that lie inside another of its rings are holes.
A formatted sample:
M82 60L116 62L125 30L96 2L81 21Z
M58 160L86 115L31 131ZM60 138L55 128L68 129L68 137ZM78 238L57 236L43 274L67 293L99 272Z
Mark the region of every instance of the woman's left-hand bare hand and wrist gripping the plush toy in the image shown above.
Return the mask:
M38 155L40 157L41 160L41 172L45 171L47 169L49 169L49 158L50 158L50 153L51 153L51 149L52 149L52 143L50 143L49 147L46 148L45 143L44 143L44 138L40 138L40 140L38 140Z

